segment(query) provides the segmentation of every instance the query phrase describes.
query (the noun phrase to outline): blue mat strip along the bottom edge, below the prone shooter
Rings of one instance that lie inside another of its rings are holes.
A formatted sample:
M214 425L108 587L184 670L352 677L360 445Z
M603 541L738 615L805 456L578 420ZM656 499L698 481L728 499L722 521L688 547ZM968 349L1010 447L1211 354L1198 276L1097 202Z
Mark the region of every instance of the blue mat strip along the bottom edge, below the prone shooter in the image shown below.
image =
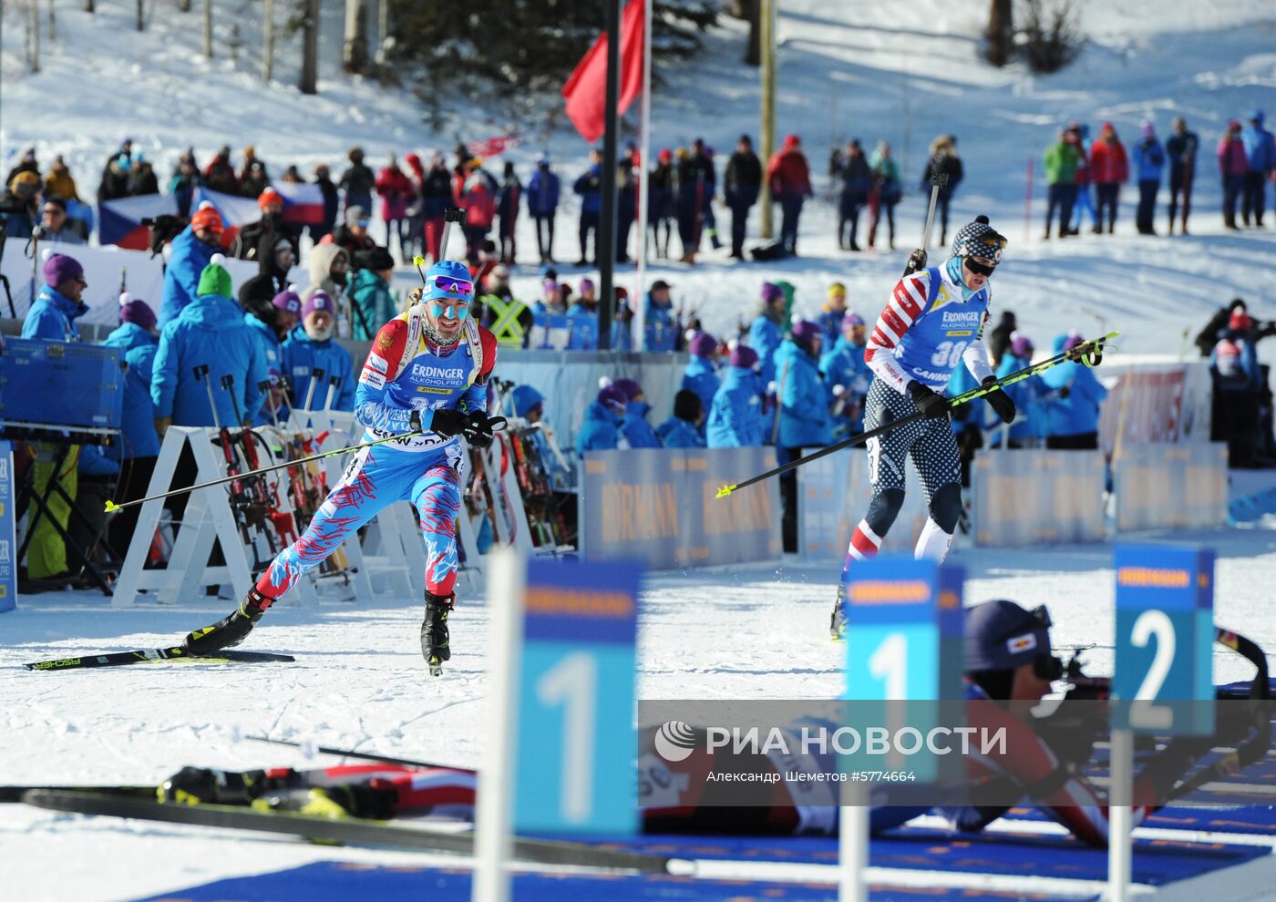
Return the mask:
M675 876L584 878L578 875L519 874L514 878L517 902L564 899L662 899L664 902L837 902L837 888L810 883L758 880L699 880ZM1097 896L1067 902L1096 902ZM320 861L302 868L236 876L203 887L151 896L142 902L470 902L470 871L440 868L382 868L341 861ZM926 889L873 887L870 902L1063 902L1041 893L998 893L981 889Z

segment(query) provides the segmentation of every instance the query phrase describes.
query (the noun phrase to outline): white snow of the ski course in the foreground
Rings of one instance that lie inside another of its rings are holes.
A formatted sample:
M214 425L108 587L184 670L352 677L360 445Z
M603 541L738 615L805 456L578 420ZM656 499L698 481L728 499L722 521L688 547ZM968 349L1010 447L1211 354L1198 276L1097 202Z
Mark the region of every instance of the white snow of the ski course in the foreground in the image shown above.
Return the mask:
M1216 620L1276 649L1266 587L1276 533L1175 536L1219 550ZM1059 646L1097 646L1087 667L1110 672L1108 546L958 550L966 603L1009 597L1045 603ZM838 561L653 574L639 624L639 698L832 698L846 649L827 638ZM441 679L422 670L419 605L276 607L249 647L296 654L292 665L134 665L31 672L26 661L149 647L203 623L211 610L111 610L100 596L24 600L4 615L0 649L0 782L154 782L186 764L314 765L301 751L246 741L269 735L475 767L485 748L487 607L452 620L456 658ZM1216 656L1217 680L1248 677ZM332 759L323 759L332 763ZM314 848L198 828L82 819L0 806L8 885L57 898L135 898L199 880L319 859L402 861L387 852ZM85 896L87 893L87 896Z

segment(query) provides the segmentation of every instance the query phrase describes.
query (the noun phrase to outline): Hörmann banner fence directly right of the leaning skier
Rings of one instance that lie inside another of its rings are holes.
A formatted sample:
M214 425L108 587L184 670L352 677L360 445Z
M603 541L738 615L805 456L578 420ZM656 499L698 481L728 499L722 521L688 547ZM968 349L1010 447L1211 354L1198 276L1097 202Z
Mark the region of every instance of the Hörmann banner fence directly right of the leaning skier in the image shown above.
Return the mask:
M579 480L581 554L638 556L652 569L780 556L777 480L715 500L723 484L776 466L771 448L588 452Z

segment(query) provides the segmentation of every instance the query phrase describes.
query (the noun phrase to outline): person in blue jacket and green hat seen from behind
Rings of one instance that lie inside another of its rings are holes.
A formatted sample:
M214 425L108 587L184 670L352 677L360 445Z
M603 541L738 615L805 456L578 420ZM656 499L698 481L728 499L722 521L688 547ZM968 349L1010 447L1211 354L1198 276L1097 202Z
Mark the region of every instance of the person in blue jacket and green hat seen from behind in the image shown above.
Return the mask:
M244 310L231 300L231 276L214 255L204 267L197 297L175 320L160 332L151 399L156 404L156 430L177 426L212 426L213 411L208 407L208 389L195 379L197 366L208 366L217 418L223 426L235 426L236 401L239 416L251 424L262 407L258 385L267 380L265 361L248 324ZM222 376L235 378L234 397L222 388Z

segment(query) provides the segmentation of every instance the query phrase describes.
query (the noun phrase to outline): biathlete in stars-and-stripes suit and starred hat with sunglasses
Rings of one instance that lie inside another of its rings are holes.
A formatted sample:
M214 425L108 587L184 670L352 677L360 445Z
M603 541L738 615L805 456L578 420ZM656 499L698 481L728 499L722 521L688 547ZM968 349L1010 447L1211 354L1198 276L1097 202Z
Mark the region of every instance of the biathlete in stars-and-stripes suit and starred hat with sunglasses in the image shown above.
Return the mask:
M938 561L948 556L961 517L961 458L944 389L958 364L965 364L981 384L997 379L984 347L984 323L988 279L1000 263L1004 246L1005 237L988 225L986 216L963 226L947 263L911 273L896 283L869 336L864 362L873 371L873 383L864 401L864 429L873 430L919 411L923 418L865 443L872 501L846 551L829 625L835 639L842 637L846 626L843 605L851 566L877 554L903 505L903 468L909 457L921 476L930 508L915 556ZM997 389L985 399L1003 422L1014 420L1014 402L1004 392Z

